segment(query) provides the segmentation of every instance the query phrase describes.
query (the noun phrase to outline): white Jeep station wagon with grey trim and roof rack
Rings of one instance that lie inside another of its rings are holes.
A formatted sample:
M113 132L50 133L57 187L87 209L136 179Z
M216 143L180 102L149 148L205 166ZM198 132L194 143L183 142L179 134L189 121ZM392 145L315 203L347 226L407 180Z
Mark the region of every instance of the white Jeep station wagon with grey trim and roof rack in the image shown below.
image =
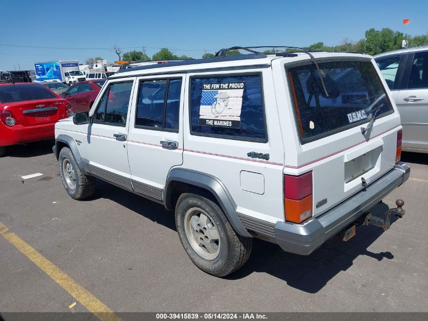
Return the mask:
M58 122L54 153L69 196L91 196L97 177L175 209L186 254L215 276L239 269L254 237L308 255L356 225L386 230L392 214L402 217L401 200L368 213L410 175L400 115L373 58L226 55L236 49L123 69L90 112Z

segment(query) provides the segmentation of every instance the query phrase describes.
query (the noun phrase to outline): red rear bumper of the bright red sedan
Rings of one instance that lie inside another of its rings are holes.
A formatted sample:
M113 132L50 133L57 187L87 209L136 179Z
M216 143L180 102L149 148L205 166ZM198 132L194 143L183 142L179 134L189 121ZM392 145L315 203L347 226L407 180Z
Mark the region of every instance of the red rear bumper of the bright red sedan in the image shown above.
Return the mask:
M54 137L55 123L29 127L22 125L8 127L0 123L0 146L11 146Z

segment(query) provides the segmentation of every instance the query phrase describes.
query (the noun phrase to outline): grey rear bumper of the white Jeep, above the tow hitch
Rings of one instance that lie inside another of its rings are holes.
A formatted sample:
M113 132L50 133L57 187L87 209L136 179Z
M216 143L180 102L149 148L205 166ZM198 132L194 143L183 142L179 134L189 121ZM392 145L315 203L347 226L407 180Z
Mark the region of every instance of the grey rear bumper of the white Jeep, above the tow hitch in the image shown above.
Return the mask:
M410 167L399 162L365 191L357 193L321 217L310 219L304 224L279 221L275 225L276 242L286 252L309 255L407 181L409 176Z

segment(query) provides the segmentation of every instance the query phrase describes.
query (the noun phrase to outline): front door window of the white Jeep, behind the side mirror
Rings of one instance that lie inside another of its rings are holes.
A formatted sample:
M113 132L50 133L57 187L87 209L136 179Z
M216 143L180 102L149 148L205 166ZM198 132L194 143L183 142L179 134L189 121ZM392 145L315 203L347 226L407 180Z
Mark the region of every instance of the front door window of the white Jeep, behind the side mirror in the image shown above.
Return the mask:
M104 91L95 112L96 123L125 126L133 82L110 84Z

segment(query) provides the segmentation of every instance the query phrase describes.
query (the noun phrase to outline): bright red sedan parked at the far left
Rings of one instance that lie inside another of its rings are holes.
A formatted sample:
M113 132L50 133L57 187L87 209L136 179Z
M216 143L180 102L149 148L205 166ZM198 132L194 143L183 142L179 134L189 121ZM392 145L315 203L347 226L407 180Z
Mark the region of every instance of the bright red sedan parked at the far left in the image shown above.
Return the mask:
M55 137L55 123L73 116L71 104L40 84L0 84L0 157L5 147Z

